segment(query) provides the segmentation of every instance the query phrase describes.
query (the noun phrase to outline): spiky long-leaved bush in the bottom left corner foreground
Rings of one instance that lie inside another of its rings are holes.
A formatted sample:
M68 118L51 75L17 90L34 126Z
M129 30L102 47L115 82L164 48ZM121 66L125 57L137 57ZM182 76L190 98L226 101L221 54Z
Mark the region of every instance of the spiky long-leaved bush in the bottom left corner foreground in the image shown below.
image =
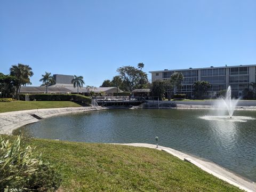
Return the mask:
M0 191L53 191L60 179L53 167L33 157L34 148L21 147L20 137L10 142L0 137ZM44 187L44 188L42 188Z

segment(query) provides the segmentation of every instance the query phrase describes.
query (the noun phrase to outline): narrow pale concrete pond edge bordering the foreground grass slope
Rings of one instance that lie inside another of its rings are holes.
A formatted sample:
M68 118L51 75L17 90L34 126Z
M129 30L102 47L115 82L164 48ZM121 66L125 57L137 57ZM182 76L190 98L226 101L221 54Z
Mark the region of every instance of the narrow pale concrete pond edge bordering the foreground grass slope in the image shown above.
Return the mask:
M221 167L220 165L217 165L215 163L204 161L203 159L196 158L191 155L187 155L185 153L182 153L178 150L169 148L169 147L163 147L158 146L156 148L156 145L151 145L148 143L111 143L113 145L126 145L126 146L134 146L134 147L147 147L147 148L154 148L157 150L165 151L166 153L169 153L175 157L178 157L182 161L187 161L189 163L192 163L199 167L200 169L206 171L207 173L210 173L214 175L215 177L226 181L230 183L231 185L234 185L242 190L248 191L248 192L255 192L256 191L256 184L252 181L246 180L242 178L239 175L236 175L235 173L230 172L229 170Z

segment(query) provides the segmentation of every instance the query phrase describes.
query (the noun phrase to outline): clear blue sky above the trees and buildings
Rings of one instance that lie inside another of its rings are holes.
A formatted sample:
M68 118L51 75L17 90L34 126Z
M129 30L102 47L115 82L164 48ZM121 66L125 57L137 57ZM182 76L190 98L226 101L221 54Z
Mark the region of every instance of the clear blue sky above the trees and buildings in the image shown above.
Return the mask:
M145 71L256 64L256 1L0 1L0 72L23 63L99 86ZM149 75L149 78L150 75Z

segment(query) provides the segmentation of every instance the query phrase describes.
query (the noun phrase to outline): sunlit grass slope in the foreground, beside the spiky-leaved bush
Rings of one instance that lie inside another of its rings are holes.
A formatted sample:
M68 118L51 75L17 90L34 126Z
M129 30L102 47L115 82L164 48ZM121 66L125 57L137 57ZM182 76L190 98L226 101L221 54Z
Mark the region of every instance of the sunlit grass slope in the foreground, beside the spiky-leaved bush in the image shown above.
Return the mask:
M62 174L63 191L241 191L155 149L29 139Z

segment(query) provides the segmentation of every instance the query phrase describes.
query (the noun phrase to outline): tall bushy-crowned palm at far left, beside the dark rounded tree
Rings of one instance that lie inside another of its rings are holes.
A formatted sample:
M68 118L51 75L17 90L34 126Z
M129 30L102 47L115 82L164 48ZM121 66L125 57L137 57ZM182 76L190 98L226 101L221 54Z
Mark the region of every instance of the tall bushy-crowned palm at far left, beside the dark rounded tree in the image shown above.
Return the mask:
M17 84L15 87L16 91L16 98L19 100L19 94L20 94L20 87L21 85L25 86L27 84L31 84L30 78L34 75L32 68L28 65L23 65L21 63L18 63L18 65L13 65L10 68L10 75L17 78Z

